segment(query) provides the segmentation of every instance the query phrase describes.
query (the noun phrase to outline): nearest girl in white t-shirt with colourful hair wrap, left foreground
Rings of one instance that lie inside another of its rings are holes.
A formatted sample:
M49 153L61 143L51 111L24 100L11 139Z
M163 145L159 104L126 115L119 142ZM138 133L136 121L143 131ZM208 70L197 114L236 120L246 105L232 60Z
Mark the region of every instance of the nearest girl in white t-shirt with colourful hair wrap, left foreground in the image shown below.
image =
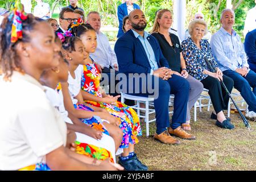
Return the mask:
M95 161L64 147L67 126L39 83L44 70L59 65L60 48L48 23L25 14L20 1L15 6L0 32L0 170L40 169L38 163L52 170L116 170L108 160ZM14 19L20 19L18 24Z

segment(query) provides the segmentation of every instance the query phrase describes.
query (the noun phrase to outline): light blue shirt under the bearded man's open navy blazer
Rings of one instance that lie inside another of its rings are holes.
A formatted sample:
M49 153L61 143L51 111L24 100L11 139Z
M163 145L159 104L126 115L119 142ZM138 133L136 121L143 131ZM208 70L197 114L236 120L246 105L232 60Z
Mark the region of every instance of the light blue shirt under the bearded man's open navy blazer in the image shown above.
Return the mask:
M154 50L153 50L153 48L151 47L150 43L147 40L147 39L150 39L150 38L148 38L148 36L150 36L150 34L148 34L148 32L146 32L146 31L144 31L144 36L142 37L136 31L134 31L134 30L132 30L132 31L133 31L133 34L134 34L135 38L139 38L139 40L142 43L142 46L143 46L143 48L144 48L144 50L147 54L147 59L150 62L150 67L151 67L150 75L152 75L153 71L158 69L158 63L155 59Z

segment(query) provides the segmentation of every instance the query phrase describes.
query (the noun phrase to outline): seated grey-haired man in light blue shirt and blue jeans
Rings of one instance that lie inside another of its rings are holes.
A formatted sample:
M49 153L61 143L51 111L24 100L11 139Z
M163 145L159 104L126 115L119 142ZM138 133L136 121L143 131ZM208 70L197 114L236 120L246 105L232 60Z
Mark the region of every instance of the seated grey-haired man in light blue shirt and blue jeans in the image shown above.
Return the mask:
M221 13L220 30L212 36L210 47L224 75L234 80L236 88L249 106L247 118L256 118L256 73L249 69L240 36L233 30L235 14L225 9ZM253 91L251 91L253 88Z

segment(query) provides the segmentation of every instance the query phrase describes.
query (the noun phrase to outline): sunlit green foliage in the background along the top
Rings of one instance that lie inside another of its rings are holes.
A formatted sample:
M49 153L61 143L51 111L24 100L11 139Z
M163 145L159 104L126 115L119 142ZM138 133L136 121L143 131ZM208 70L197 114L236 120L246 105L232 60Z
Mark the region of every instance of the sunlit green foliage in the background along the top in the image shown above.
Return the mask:
M0 7L9 9L11 3L15 1L3 1L0 0ZM36 5L34 0L32 2L32 9ZM44 0L44 2L49 3L51 8L55 10L60 10L61 7L68 6L68 0ZM208 23L209 31L214 33L220 28L220 14L221 11L226 8L226 0L186 0L187 2L187 20L185 25L188 26L189 22L194 18L193 16L198 11L201 11L205 15L205 20ZM217 8L218 3L220 7ZM238 3L238 1L232 1L233 3ZM122 0L80 0L79 6L85 11L85 16L90 11L98 11L101 13L102 26L118 27L117 18L117 7L122 3ZM137 3L141 9L144 11L147 19L147 28L150 30L155 19L155 12L159 9L170 9L172 10L173 1L172 0L138 0ZM243 26L246 18L246 13L249 9L255 6L254 0L243 0L242 3L235 10L236 13L236 24L234 30L238 32L243 40ZM56 11L53 13L53 18L57 18ZM117 32L107 33L110 40L115 40L115 34Z

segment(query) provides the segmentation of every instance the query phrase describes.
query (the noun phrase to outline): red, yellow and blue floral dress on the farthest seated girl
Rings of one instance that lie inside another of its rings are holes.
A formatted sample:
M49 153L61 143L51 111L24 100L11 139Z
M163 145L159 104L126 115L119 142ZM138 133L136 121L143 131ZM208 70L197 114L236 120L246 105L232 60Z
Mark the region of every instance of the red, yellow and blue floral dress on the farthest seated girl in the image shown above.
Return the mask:
M84 72L81 77L81 89L94 96L102 97L100 93L100 79L101 74L94 61L93 64L84 65ZM86 100L85 102L96 107L104 108L108 110L110 114L120 118L119 127L123 131L121 148L127 148L129 143L135 144L139 142L137 136L142 135L141 125L139 124L137 113L131 107L119 101L117 101L117 106L102 102Z

